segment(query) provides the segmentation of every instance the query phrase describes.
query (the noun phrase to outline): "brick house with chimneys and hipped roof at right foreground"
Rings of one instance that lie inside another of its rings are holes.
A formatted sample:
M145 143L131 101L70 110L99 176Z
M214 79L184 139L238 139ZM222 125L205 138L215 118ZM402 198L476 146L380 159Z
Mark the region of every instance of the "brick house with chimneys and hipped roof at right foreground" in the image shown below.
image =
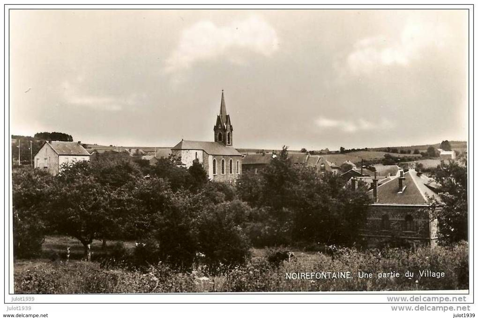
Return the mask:
M368 247L384 244L409 244L435 246L437 221L432 216L429 197L437 200L439 186L433 179L410 169L378 184L373 180L369 190L373 203L360 236ZM356 187L352 179L352 188Z

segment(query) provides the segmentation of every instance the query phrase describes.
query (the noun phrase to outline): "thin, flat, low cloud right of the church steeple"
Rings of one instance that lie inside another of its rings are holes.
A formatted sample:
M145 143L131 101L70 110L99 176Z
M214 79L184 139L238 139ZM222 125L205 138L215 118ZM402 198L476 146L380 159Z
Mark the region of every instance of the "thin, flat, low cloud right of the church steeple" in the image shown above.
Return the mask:
M315 125L325 129L335 128L344 132L356 132L373 129L385 130L395 127L395 124L386 118L383 118L378 122L371 122L363 118L359 118L356 120L339 120L319 117L315 119Z

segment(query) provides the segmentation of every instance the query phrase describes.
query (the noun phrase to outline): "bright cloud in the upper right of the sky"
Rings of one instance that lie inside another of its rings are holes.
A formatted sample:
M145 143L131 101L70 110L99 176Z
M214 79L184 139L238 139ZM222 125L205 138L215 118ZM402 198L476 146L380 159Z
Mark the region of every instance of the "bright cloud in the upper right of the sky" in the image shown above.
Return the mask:
M371 74L380 66L406 66L419 58L425 48L443 46L445 32L436 25L408 21L396 36L375 36L359 40L347 56L353 74Z

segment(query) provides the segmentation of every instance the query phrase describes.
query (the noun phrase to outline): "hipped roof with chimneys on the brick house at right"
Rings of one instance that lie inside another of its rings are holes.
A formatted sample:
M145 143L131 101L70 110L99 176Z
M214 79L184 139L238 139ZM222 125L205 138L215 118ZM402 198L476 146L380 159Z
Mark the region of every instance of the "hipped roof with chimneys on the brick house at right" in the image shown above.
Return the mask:
M417 175L413 169L403 174L404 190L402 193L398 192L399 177L392 177L389 181L384 182L377 187L376 203L379 204L427 204L427 196L435 197L436 193L427 186L432 184L433 180L426 177L424 174ZM373 189L369 190L369 195L373 196Z

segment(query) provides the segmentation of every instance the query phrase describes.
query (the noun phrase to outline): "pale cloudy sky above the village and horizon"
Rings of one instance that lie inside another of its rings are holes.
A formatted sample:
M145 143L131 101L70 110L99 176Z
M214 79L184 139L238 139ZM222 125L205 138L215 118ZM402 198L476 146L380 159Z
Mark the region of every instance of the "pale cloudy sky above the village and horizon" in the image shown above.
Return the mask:
M11 134L173 147L467 140L466 10L11 10Z

